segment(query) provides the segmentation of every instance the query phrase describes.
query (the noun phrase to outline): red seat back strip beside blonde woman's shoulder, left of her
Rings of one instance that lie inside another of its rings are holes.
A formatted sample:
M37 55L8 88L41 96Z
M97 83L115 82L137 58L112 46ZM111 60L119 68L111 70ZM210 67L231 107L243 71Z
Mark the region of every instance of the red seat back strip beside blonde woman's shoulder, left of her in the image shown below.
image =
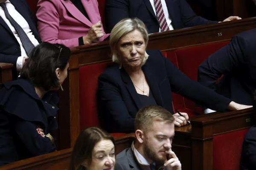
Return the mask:
M79 68L79 97L81 130L100 126L97 111L98 77L111 62L86 65Z

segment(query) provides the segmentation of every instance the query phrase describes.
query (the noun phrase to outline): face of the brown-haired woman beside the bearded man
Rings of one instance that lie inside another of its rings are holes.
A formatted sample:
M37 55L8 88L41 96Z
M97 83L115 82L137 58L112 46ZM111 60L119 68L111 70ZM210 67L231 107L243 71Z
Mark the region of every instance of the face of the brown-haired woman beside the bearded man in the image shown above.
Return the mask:
M93 148L92 162L87 170L113 170L115 163L113 142L109 139L102 139Z

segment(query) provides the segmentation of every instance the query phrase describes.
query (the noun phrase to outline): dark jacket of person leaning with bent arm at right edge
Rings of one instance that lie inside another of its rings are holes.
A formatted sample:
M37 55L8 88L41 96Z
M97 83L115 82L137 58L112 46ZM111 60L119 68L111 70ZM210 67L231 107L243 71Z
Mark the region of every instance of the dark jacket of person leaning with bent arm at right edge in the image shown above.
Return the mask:
M198 81L244 105L253 104L256 89L256 29L244 31L198 67ZM224 77L216 84L216 80Z

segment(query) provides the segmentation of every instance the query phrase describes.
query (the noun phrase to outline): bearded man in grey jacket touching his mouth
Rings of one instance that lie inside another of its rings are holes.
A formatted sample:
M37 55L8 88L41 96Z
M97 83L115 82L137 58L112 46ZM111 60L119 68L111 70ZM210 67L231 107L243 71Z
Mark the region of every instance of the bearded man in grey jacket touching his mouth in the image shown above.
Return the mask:
M135 141L116 156L117 170L181 170L172 151L174 117L161 106L151 105L138 111Z

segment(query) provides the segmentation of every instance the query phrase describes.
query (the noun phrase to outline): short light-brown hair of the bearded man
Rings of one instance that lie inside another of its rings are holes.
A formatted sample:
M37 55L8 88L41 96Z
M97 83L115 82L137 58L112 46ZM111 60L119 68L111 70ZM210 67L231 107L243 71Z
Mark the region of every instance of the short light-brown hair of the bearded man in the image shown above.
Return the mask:
M153 121L173 123L174 117L172 113L161 106L146 106L141 108L135 117L135 131L138 129L147 131L152 126Z

